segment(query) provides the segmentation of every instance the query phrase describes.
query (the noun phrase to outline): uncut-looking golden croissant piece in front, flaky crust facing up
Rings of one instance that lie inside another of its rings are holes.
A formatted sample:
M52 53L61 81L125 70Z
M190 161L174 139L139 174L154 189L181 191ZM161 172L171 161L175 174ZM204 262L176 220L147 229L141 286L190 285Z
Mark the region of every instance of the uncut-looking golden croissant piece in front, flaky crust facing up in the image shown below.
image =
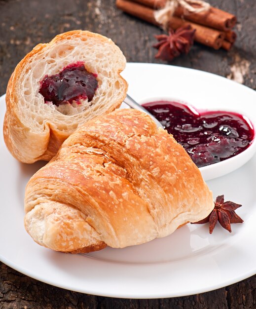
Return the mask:
M42 246L85 253L164 237L213 207L199 169L172 135L123 109L83 124L30 179L24 223Z

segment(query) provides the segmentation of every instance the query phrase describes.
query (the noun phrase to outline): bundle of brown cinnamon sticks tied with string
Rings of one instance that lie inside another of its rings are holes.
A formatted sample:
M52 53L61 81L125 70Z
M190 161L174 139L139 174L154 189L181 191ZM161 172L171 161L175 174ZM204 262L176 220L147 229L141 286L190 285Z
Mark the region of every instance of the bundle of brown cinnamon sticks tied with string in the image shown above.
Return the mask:
M154 12L164 8L167 0L116 0L116 6L122 11L143 19L151 24L160 25ZM194 40L204 45L219 49L230 50L236 40L236 33L232 28L236 24L236 16L216 7L199 13L188 13L178 6L174 15L169 18L168 26L176 30L190 25L195 29Z

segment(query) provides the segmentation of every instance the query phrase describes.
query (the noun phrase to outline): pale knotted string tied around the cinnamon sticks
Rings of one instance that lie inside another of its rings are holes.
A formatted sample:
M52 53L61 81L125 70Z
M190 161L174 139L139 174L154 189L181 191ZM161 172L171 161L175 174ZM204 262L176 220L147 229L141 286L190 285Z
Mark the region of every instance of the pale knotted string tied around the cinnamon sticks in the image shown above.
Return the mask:
M191 4L199 4L200 7L193 7ZM201 0L168 0L164 8L154 11L155 20L164 28L167 28L170 18L173 16L179 5L188 13L208 11L211 7L209 3Z

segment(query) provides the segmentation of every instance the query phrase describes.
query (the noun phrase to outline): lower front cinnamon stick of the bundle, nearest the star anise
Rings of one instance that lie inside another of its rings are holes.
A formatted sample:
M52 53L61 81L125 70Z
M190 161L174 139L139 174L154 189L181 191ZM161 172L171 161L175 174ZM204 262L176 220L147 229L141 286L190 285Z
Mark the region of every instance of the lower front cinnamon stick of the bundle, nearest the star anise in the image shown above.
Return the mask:
M116 6L126 13L143 19L151 24L161 26L156 22L154 18L154 10L150 7L129 0L116 0ZM192 29L196 30L195 41L213 47L214 49L219 49L222 46L224 34L221 31L201 26L176 16L171 17L169 20L169 26L174 30L186 25L190 25Z

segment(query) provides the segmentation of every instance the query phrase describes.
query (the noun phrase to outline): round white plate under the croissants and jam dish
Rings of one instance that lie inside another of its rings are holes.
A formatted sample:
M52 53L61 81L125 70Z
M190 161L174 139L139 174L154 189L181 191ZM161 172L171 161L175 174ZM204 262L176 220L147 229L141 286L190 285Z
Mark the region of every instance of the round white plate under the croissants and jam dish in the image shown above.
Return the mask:
M138 101L170 97L197 108L256 105L256 93L205 72L179 67L128 64L123 76ZM0 121L4 115L0 98ZM2 134L1 134L2 135ZM123 298L163 298L196 294L256 273L256 155L243 167L208 182L214 196L243 204L243 224L232 233L216 226L186 225L172 235L124 249L106 248L82 255L40 247L23 228L24 188L43 163L17 162L0 138L0 260L40 281L88 294Z

